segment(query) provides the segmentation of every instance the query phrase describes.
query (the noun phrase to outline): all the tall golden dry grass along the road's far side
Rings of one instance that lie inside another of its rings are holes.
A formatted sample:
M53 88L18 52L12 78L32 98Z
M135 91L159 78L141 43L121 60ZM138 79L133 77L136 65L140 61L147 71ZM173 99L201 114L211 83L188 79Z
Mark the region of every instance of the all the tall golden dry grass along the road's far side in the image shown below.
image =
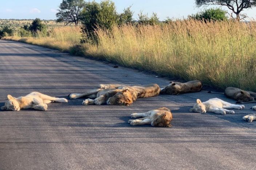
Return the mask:
M98 29L96 33L97 45L85 43L77 50L163 76L255 91L255 22L175 21L155 26L115 26L112 32ZM25 42L67 51L80 44L79 37L79 28L56 28L50 37L27 38Z

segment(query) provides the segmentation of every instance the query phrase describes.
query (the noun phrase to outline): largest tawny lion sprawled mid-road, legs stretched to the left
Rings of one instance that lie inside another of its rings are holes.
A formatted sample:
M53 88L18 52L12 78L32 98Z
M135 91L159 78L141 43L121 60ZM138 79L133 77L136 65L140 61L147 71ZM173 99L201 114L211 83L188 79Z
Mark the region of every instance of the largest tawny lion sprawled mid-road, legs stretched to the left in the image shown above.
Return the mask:
M120 84L100 84L98 89L89 90L83 94L70 94L69 98L77 99L81 97L95 98L86 99L83 105L131 105L137 98L148 98L157 96L160 93L160 87L157 84L146 86L124 86Z

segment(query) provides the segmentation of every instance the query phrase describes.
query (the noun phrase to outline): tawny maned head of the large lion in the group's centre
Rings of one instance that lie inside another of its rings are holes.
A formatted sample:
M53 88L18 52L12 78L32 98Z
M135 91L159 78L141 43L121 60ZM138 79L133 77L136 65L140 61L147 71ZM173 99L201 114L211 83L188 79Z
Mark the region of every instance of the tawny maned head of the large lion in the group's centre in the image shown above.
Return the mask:
M107 101L108 105L131 105L133 102L132 95L128 89L124 89L122 92L116 93L110 97Z

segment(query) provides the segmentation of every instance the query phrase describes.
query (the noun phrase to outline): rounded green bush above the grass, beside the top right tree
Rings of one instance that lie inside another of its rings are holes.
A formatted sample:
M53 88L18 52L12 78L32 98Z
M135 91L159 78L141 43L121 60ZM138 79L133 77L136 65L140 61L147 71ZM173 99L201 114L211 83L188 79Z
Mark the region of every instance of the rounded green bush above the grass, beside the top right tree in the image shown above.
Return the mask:
M224 21L228 20L228 17L226 15L226 11L220 9L220 8L211 8L206 9L205 11L202 11L200 13L189 15L188 18L192 18L195 20L204 20L204 21Z

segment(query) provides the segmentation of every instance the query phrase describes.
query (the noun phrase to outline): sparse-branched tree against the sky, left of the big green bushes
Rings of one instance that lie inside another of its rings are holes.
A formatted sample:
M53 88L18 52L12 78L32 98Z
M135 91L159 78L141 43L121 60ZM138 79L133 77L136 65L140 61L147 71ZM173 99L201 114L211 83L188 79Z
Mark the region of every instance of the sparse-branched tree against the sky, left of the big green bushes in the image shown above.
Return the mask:
M75 23L77 25L81 19L81 11L85 7L84 0L62 0L56 13L57 22L64 22L65 25Z

